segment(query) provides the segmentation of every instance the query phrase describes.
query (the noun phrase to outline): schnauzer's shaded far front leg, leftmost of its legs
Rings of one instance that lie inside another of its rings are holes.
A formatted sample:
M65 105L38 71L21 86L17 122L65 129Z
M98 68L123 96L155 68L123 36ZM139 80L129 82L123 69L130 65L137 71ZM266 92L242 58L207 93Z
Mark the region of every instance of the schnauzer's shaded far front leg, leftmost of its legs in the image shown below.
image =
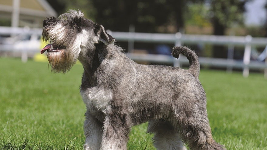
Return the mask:
M99 122L88 110L84 121L84 150L99 150L102 141L103 123Z

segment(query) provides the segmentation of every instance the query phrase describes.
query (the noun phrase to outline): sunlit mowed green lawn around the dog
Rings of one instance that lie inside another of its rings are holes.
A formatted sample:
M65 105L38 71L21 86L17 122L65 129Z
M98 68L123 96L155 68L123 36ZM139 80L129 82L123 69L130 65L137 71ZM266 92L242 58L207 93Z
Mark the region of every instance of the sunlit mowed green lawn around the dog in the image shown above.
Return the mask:
M54 74L48 63L0 58L0 149L82 149L82 73L82 65ZM214 139L228 150L267 150L263 74L201 70L199 78ZM155 150L146 128L132 128L129 150Z

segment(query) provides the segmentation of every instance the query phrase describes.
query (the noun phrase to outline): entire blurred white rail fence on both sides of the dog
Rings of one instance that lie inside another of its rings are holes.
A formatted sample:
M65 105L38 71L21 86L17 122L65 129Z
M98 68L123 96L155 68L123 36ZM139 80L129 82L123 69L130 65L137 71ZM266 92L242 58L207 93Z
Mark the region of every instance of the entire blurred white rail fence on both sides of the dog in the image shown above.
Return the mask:
M187 35L187 34L158 34L158 33L136 33L136 32L111 32L110 35L116 38L116 41L128 42L128 56L136 61L149 61L149 62L167 62L173 63L174 66L180 66L182 63L188 63L185 57L174 59L167 55L152 55L152 54L135 54L132 53L134 49L134 42L155 42L155 43L173 43L176 46L182 45L182 43L192 44L213 44L213 45L227 45L228 46L228 58L207 58L200 57L199 61L201 65L211 65L217 67L227 67L228 71L232 71L232 68L242 68L243 76L249 75L249 68L264 69L264 75L267 78L267 59L264 62L250 61L252 47L266 46L267 38L252 38L248 36L215 36L215 35ZM0 27L1 35L16 35L16 37L30 35L28 41L24 41L19 45L19 38L13 40L13 43L6 44L2 42L0 44L1 51L21 51L22 61L27 61L27 53L39 52L40 50L40 37L42 29L35 28L11 28L11 27ZM12 41L12 40L11 40ZM0 41L1 42L1 41ZM35 44L34 44L35 43ZM235 45L243 45L245 48L243 61L237 61L233 59L233 47ZM267 49L267 46L266 46ZM267 56L267 50L265 50Z

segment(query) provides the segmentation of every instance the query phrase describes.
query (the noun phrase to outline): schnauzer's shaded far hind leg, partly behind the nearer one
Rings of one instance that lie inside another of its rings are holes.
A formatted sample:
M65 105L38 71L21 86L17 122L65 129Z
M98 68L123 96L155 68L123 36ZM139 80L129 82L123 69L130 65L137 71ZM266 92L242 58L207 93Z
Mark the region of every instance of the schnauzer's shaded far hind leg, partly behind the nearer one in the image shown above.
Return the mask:
M154 133L154 146L157 150L186 150L173 126L163 120L150 120L148 122L148 133Z

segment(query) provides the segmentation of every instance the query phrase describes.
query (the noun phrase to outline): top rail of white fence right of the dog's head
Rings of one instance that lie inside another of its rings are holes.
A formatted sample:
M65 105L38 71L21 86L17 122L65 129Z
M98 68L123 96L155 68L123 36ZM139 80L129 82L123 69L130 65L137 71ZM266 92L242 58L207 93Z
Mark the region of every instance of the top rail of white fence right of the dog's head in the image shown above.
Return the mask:
M158 42L158 43L175 43L177 41L175 35L179 34L164 34L164 33L138 33L134 32L129 35L128 32L108 32L117 41L127 42L129 39L134 39L136 42ZM181 33L180 33L181 34ZM182 34L181 42L186 43L209 43L214 45L245 45L246 36L226 36L226 35L188 35ZM266 46L267 38L252 38L248 43L256 46Z

